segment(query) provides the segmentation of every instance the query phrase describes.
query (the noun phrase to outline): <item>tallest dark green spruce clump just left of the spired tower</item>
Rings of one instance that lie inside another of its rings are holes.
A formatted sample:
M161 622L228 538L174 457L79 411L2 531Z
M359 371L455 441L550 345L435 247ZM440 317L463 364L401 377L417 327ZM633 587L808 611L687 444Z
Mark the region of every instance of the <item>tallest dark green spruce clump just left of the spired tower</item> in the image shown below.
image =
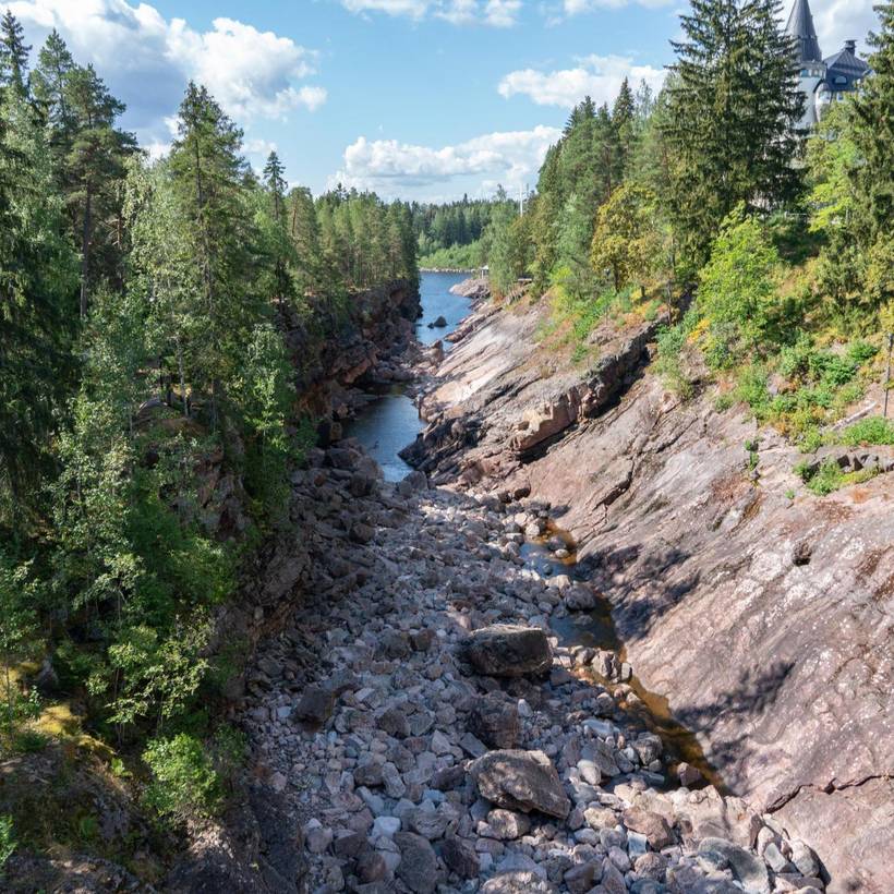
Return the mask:
M739 203L775 207L795 197L796 131L804 108L776 0L693 0L669 88L666 134L679 158L675 225L694 264Z

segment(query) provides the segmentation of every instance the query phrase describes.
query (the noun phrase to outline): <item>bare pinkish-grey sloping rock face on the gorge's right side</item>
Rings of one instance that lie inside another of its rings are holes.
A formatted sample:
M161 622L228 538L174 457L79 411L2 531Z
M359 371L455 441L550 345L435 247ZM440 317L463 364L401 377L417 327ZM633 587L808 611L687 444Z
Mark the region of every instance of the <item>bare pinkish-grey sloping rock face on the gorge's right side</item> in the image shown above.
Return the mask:
M775 432L665 389L655 323L604 324L576 367L536 347L545 312L478 313L407 456L435 481L548 502L638 675L728 786L817 848L831 891L889 891L894 475L813 496Z

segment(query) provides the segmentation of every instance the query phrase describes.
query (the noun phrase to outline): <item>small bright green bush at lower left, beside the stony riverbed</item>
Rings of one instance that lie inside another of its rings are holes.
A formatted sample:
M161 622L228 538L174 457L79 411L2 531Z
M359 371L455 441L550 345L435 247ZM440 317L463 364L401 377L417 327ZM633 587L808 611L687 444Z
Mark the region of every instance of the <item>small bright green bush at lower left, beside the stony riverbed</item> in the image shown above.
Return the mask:
M172 739L154 739L143 752L143 760L153 774L145 801L159 817L180 823L219 811L220 778L194 736L181 733Z

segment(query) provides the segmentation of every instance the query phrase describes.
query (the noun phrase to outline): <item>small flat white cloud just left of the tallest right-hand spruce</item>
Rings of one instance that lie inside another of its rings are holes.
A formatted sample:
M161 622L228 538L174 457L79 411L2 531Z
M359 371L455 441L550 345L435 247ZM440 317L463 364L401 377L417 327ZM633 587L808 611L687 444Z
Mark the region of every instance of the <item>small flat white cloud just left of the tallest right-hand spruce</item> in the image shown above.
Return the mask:
M497 89L500 96L528 96L539 106L561 106L570 108L584 96L591 96L597 104L612 102L617 96L621 82L627 77L636 89L640 81L645 81L657 90L664 81L664 71L651 65L635 65L626 56L588 56L578 60L573 69L542 72L522 69L507 74Z

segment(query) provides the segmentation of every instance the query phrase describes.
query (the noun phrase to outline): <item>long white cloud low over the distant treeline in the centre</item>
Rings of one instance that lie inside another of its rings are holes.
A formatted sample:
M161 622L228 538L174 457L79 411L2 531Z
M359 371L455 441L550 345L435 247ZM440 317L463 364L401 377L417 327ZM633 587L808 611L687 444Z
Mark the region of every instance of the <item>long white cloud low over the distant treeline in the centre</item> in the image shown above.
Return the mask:
M343 167L329 183L373 190L388 198L442 197L451 189L455 194L478 193L495 183L517 189L536 179L546 150L560 135L557 128L537 126L439 148L361 136L345 149Z

